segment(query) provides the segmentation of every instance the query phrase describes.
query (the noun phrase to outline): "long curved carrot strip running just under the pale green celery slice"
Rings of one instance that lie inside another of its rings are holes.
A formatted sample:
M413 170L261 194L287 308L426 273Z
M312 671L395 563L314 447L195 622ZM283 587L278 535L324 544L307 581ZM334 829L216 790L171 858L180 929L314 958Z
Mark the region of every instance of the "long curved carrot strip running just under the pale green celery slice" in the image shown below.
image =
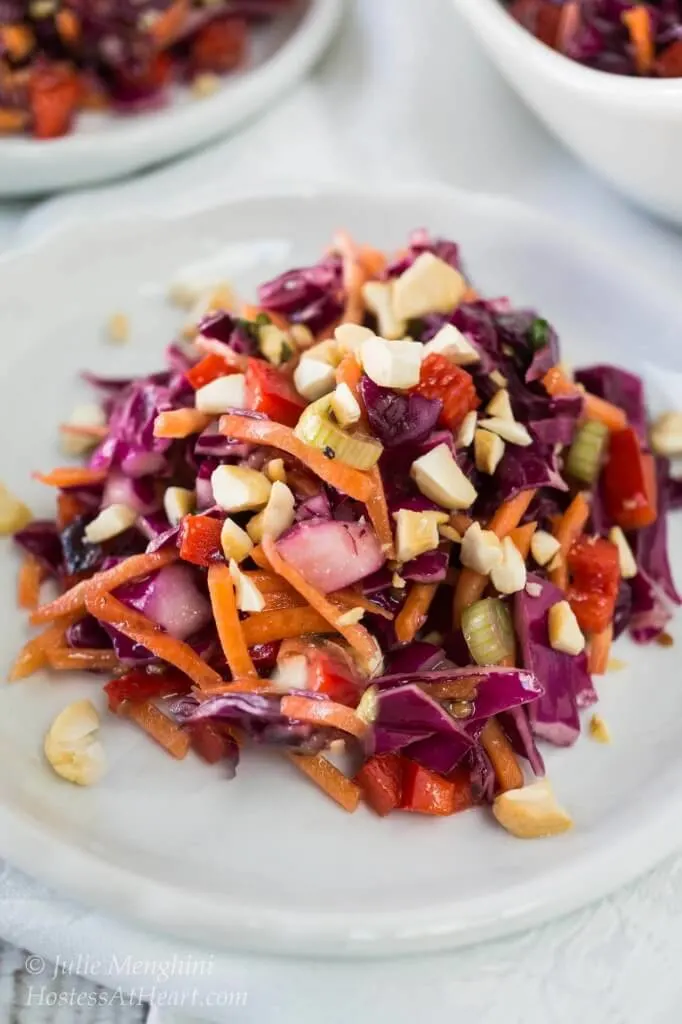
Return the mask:
M290 427L284 427L281 423L252 420L246 416L222 416L220 433L237 440L267 444L287 452L295 459L300 459L326 483L354 498L355 501L365 503L372 495L372 479L367 473L344 466L338 460L328 459L317 449L304 444Z

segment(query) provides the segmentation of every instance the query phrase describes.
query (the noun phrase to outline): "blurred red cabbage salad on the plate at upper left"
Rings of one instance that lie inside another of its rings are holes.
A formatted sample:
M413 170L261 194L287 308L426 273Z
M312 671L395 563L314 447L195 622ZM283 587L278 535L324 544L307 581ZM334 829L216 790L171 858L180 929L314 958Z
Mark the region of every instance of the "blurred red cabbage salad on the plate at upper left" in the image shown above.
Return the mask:
M249 25L288 0L3 0L0 135L68 134L85 110L206 96L248 56Z

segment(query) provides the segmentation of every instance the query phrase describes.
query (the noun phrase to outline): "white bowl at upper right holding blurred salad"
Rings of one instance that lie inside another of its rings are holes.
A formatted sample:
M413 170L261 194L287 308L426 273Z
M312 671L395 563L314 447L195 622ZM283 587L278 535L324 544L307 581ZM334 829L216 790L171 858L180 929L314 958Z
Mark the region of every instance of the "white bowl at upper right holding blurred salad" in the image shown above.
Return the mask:
M682 223L682 80L593 71L545 46L500 0L454 0L508 82L576 156L652 213Z

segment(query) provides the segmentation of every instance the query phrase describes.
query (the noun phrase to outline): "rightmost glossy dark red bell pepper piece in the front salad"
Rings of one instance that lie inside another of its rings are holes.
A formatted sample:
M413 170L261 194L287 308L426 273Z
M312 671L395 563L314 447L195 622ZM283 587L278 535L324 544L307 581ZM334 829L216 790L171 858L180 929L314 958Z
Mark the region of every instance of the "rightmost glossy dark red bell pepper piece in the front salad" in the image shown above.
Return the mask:
M640 529L655 522L655 464L653 456L642 452L632 427L610 435L602 479L606 511L619 526Z

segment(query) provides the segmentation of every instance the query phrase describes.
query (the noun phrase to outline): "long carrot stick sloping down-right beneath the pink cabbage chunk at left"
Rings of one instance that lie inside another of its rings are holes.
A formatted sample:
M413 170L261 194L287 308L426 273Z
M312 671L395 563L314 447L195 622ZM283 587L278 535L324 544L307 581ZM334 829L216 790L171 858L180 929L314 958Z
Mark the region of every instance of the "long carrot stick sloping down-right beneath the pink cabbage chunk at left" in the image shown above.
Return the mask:
M175 666L188 676L199 687L216 686L222 678L203 662L191 647L164 633L160 626L145 615L126 607L112 594L88 594L86 608L90 614L103 623L111 623L125 636L142 644L157 657Z

